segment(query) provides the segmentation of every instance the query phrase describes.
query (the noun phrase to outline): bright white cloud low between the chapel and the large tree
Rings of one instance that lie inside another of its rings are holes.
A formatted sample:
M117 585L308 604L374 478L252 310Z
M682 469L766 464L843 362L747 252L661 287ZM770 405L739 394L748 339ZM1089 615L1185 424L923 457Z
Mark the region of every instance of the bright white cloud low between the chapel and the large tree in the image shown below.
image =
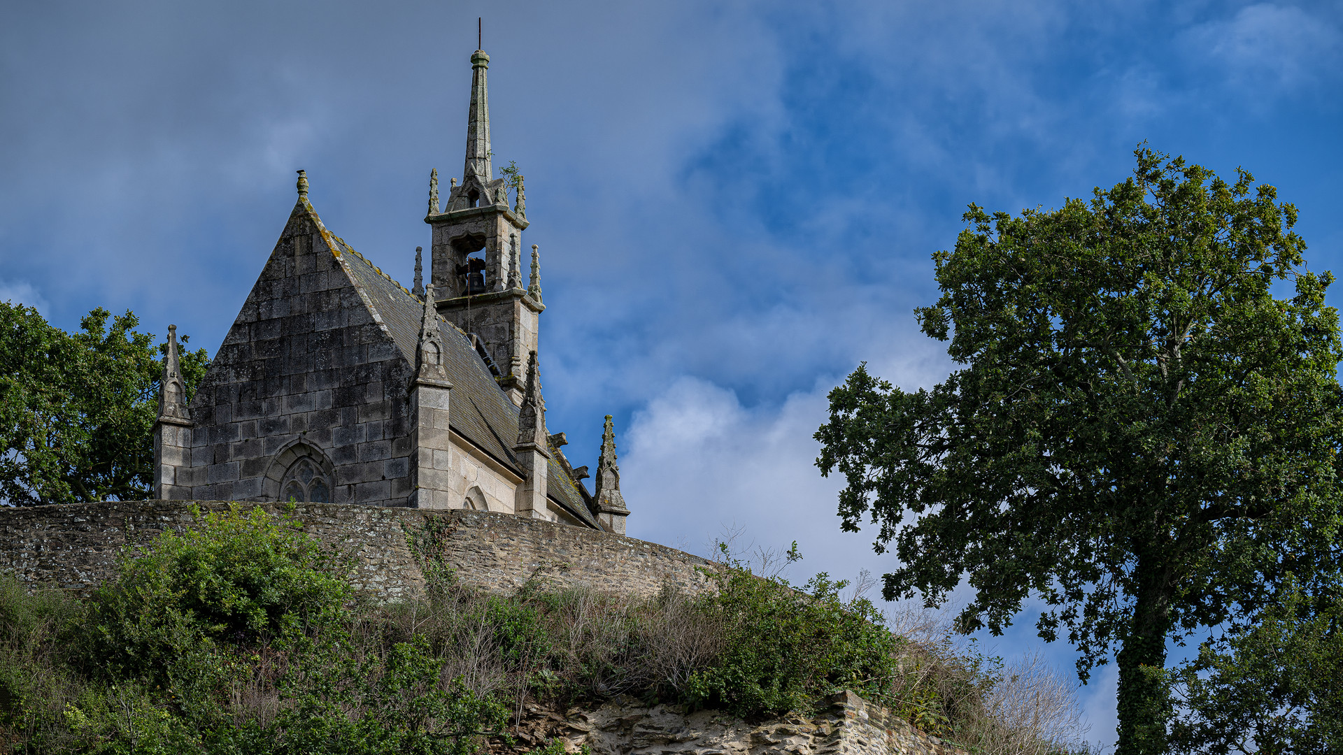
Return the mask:
M714 537L740 527L761 547L796 540L808 572L880 570L868 540L839 532L839 481L813 466L819 445L811 435L826 407L823 388L751 408L728 388L681 378L637 411L624 434L631 535L708 555Z

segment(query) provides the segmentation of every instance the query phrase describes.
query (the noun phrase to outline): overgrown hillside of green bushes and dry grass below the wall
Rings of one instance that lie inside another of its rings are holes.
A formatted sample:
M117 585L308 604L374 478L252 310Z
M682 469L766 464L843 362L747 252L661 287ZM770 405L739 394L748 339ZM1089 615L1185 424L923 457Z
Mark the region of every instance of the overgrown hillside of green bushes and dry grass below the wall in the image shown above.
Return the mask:
M927 627L893 634L826 575L798 590L728 560L700 596L493 595L435 562L441 533L410 535L431 584L392 605L361 601L338 552L262 508L124 553L87 601L0 582L0 751L471 755L516 748L533 703L753 719L841 689L975 752L1076 744L1065 685Z

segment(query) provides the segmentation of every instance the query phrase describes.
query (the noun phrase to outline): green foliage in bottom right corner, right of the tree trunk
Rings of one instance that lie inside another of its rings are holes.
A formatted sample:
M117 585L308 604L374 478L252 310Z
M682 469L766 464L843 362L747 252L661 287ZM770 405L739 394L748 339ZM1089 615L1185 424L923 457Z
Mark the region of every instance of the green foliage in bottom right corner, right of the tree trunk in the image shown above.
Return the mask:
M1175 676L1176 752L1343 751L1343 598L1289 586L1258 626L1205 642Z

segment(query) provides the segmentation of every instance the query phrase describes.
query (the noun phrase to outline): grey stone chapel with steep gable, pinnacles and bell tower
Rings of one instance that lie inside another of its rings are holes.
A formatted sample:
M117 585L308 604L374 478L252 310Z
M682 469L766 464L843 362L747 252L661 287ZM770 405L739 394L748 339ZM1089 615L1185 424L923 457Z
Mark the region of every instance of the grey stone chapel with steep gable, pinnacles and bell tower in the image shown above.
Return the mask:
M169 326L158 498L469 508L624 533L611 418L592 492L545 426L540 258L532 245L524 286L525 191L490 165L489 60L471 54L466 163L442 206L430 173L427 285L422 249L407 290L326 230L298 171L298 202L189 404Z

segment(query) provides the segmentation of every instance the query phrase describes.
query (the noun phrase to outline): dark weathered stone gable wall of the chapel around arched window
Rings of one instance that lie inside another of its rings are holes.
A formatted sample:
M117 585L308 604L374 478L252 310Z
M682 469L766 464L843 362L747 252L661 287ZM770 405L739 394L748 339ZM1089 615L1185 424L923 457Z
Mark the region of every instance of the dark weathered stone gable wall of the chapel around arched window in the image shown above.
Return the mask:
M332 501L406 504L411 367L333 245L301 199L191 402L192 498L279 500L270 465L304 442L334 468Z

